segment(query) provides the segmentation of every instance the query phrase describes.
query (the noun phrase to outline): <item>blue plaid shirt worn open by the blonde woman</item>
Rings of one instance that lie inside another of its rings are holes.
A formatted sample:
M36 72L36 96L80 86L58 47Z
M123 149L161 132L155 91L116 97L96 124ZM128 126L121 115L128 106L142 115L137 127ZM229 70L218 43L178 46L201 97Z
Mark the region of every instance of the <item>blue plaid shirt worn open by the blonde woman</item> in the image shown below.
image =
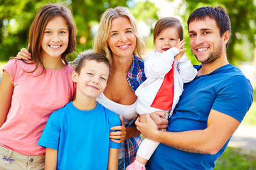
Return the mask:
M127 74L127 81L132 90L135 91L143 81L146 80L144 72L144 60L136 55L133 56L131 69ZM125 166L128 166L132 159L136 157L139 145L142 142L142 135L131 137L125 143Z

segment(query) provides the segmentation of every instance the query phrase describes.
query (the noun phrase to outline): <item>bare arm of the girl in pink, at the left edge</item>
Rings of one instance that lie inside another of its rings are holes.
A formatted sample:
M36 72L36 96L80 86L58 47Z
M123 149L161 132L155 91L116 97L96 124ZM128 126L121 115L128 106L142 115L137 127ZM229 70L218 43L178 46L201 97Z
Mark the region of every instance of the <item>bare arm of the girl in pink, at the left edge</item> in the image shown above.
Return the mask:
M7 113L11 106L11 96L14 91L14 83L8 72L4 71L0 84L0 127L6 121Z

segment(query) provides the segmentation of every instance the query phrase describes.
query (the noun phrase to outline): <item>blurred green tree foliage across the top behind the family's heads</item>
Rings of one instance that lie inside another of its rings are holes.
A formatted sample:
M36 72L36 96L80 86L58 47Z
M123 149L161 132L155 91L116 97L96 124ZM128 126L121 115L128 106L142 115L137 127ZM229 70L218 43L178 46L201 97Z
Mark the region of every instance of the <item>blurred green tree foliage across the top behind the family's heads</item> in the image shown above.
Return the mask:
M172 1L172 0L166 0ZM177 1L177 0L176 0ZM16 56L22 47L28 45L28 32L41 6L47 3L65 3L71 6L78 28L76 52L92 48L92 41L97 32L97 23L107 8L127 6L130 8L137 22L143 21L153 32L154 23L159 19L159 8L148 0L0 0L0 60L9 60ZM176 15L181 17L184 26L186 53L193 64L198 63L188 47L188 33L186 20L189 13L199 6L223 6L230 15L232 36L228 47L228 60L233 64L241 61L252 61L256 37L256 6L253 0L180 0L176 8ZM182 8L186 10L182 10ZM143 31L143 30L142 30ZM151 35L146 37L147 47L154 48ZM75 57L70 55L71 59Z

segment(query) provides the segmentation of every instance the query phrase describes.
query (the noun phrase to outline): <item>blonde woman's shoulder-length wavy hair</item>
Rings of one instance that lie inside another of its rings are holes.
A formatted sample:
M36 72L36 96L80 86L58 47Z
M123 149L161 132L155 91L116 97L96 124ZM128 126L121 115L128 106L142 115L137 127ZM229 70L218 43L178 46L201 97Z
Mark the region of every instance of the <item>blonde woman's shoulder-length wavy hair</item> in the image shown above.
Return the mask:
M102 55L105 55L112 63L112 52L110 47L107 45L107 38L110 35L111 21L114 18L125 17L129 19L131 26L134 30L136 36L136 46L134 50L134 55L142 57L142 52L144 50L144 38L139 35L137 30L136 19L129 11L128 8L118 6L116 8L108 8L105 13L103 13L102 18L100 19L100 26L95 37L95 42L93 45L94 52L99 52Z

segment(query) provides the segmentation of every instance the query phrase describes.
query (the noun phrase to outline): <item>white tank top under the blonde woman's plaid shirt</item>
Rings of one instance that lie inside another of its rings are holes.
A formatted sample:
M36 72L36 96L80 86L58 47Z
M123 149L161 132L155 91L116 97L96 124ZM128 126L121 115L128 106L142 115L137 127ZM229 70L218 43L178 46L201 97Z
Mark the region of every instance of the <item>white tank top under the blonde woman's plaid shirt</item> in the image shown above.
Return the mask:
M110 111L117 113L117 115L122 115L124 118L124 125L126 126L130 123L132 118L134 118L137 115L137 112L136 112L137 101L135 101L132 105L122 105L114 101L111 101L103 93L97 96L96 101L102 104L102 106L109 109ZM119 159L122 159L125 155L124 142L122 142L121 145L122 145L122 148L119 149L119 154L118 154Z

